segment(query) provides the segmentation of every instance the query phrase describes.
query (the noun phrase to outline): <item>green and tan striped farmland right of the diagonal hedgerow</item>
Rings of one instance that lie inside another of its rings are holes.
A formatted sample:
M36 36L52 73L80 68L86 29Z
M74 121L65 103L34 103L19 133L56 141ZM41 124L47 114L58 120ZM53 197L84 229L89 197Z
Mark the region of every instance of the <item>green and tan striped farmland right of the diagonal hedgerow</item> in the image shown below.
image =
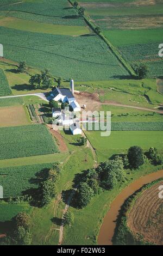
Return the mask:
M161 1L83 0L80 4L127 62L145 63L149 77L162 76L163 62L158 56L163 40Z

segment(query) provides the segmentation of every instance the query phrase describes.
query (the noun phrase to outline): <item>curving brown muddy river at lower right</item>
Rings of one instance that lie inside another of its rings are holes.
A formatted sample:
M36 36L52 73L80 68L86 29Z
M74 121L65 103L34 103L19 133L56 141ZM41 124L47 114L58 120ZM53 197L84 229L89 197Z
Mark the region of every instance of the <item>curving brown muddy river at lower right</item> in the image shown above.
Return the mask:
M131 196L136 190L139 190L143 185L152 182L153 180L163 178L163 170L148 174L135 180L128 187L124 188L120 194L114 199L110 206L110 210L105 215L101 229L98 235L98 245L112 245L112 236L116 227L118 212L121 209L124 201Z

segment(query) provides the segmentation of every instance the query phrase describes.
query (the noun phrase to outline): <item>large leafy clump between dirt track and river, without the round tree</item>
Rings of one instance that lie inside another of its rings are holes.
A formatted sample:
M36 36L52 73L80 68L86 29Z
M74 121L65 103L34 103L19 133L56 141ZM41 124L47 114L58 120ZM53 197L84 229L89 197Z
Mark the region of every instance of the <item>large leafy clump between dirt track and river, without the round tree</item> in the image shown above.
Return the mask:
M87 169L81 174L76 193L76 205L84 208L102 188L111 190L126 178L122 157L99 164L96 169Z

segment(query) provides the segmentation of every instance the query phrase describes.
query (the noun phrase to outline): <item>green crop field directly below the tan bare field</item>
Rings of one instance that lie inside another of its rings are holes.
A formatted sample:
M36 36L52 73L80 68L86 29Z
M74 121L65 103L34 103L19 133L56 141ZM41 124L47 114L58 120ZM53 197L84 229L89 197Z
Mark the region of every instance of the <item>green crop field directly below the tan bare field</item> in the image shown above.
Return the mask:
M0 159L57 152L53 137L43 125L0 128Z

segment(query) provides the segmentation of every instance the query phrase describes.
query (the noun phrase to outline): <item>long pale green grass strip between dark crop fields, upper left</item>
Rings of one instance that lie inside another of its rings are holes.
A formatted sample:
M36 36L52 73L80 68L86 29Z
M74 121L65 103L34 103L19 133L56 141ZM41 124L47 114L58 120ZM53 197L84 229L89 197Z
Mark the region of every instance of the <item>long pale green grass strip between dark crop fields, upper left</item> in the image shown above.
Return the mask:
M39 23L35 21L27 21L17 19L14 17L1 17L0 26L7 28L14 28L21 31L30 31L35 33L45 33L53 35L72 35L78 36L83 34L89 34L90 30L84 26L65 26L65 25L53 25L46 23Z

